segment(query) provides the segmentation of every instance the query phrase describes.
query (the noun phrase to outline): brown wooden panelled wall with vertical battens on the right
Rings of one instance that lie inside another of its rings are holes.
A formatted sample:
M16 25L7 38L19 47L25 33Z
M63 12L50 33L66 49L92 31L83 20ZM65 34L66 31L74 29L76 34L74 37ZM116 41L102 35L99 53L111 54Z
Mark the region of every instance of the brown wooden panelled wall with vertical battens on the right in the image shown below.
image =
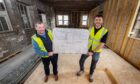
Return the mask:
M106 45L140 69L140 40L128 37L139 7L140 0L106 0L103 16L104 26L109 30ZM93 10L98 14L97 9Z

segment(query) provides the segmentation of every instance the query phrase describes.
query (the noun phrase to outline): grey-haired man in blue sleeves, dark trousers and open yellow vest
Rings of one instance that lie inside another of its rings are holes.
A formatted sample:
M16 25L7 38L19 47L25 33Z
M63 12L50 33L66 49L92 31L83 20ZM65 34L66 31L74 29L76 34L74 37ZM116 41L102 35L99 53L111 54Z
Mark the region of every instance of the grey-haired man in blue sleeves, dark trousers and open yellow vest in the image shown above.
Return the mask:
M46 30L45 25L42 22L38 22L35 25L36 33L32 36L32 45L35 52L41 56L44 70L45 70L45 78L44 82L48 81L48 76L50 74L49 65L50 62L53 65L53 74L55 81L58 80L58 71L57 71L57 60L58 54L53 53L52 48L52 32L51 30Z

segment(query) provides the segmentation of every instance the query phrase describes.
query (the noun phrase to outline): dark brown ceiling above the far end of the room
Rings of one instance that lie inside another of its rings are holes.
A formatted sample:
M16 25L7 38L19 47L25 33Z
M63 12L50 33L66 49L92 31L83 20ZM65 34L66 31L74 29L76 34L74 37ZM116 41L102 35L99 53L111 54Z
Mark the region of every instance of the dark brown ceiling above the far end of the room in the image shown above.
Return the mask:
M54 10L91 10L105 0L40 0Z

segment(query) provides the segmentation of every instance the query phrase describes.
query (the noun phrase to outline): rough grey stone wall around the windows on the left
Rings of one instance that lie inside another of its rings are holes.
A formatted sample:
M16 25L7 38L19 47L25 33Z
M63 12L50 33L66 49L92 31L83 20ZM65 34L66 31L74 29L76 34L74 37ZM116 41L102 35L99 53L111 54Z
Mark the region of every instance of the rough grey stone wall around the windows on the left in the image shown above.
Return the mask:
M23 21L16 5L17 2L31 6L32 26L29 29L24 29ZM0 32L0 58L9 56L31 44L31 36L34 34L34 24L39 20L38 10L46 14L47 20L52 18L52 8L39 0L4 0L4 3L12 25L12 30ZM51 25L48 27L50 28Z

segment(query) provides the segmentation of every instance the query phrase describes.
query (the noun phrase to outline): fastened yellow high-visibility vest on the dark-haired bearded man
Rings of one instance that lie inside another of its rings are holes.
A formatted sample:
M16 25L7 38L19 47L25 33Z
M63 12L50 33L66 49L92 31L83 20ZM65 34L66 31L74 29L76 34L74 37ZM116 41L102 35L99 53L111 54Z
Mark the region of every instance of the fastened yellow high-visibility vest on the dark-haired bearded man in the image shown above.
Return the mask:
M107 33L107 29L105 29L104 27L102 27L96 34L95 34L95 28L92 27L90 30L89 30L89 43L88 43L88 49L91 49L94 50L98 45L101 44L101 38ZM97 51L94 51L94 52L101 52L102 49L99 49Z

